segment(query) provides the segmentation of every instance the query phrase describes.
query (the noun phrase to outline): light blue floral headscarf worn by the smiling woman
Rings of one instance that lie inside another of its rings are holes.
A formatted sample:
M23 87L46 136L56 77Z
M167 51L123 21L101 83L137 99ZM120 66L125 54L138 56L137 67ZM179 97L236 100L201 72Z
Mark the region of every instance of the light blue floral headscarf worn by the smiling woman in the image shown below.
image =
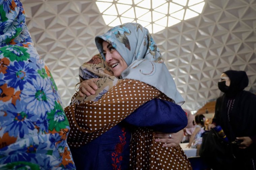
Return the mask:
M96 46L105 58L102 40L110 43L127 63L128 68L122 72L121 79L145 82L156 87L175 103L184 103L148 29L137 23L126 23L96 36Z

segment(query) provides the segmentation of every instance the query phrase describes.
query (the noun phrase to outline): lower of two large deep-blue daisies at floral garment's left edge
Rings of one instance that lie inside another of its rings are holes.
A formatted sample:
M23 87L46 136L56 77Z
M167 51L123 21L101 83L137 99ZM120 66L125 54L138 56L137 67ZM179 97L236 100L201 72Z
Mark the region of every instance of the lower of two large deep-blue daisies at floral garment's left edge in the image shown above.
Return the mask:
M6 116L1 118L2 126L6 127L4 133L8 132L10 136L23 138L28 135L30 130L35 129L33 114L27 113L25 110L26 104L20 100L16 101L14 106L12 103L4 106Z

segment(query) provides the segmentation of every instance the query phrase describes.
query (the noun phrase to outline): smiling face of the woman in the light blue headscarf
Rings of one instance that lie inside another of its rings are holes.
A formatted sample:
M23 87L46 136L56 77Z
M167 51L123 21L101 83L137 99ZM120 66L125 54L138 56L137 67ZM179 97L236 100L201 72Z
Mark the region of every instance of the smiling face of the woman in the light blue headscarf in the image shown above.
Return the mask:
M119 77L121 73L128 67L125 60L108 42L103 41L102 47L107 66L114 73L114 76Z

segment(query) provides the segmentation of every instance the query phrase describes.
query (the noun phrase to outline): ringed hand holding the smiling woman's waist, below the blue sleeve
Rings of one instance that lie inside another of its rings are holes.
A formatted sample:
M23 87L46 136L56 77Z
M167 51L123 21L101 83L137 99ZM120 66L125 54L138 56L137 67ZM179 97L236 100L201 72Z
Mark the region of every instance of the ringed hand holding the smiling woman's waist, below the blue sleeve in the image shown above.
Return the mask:
M183 129L176 133L170 133L171 138L169 138L169 133L156 133L155 137L159 137L159 139L155 139L156 142L164 143L164 147L174 147L181 143L181 140L184 137ZM166 143L166 144L165 144Z

